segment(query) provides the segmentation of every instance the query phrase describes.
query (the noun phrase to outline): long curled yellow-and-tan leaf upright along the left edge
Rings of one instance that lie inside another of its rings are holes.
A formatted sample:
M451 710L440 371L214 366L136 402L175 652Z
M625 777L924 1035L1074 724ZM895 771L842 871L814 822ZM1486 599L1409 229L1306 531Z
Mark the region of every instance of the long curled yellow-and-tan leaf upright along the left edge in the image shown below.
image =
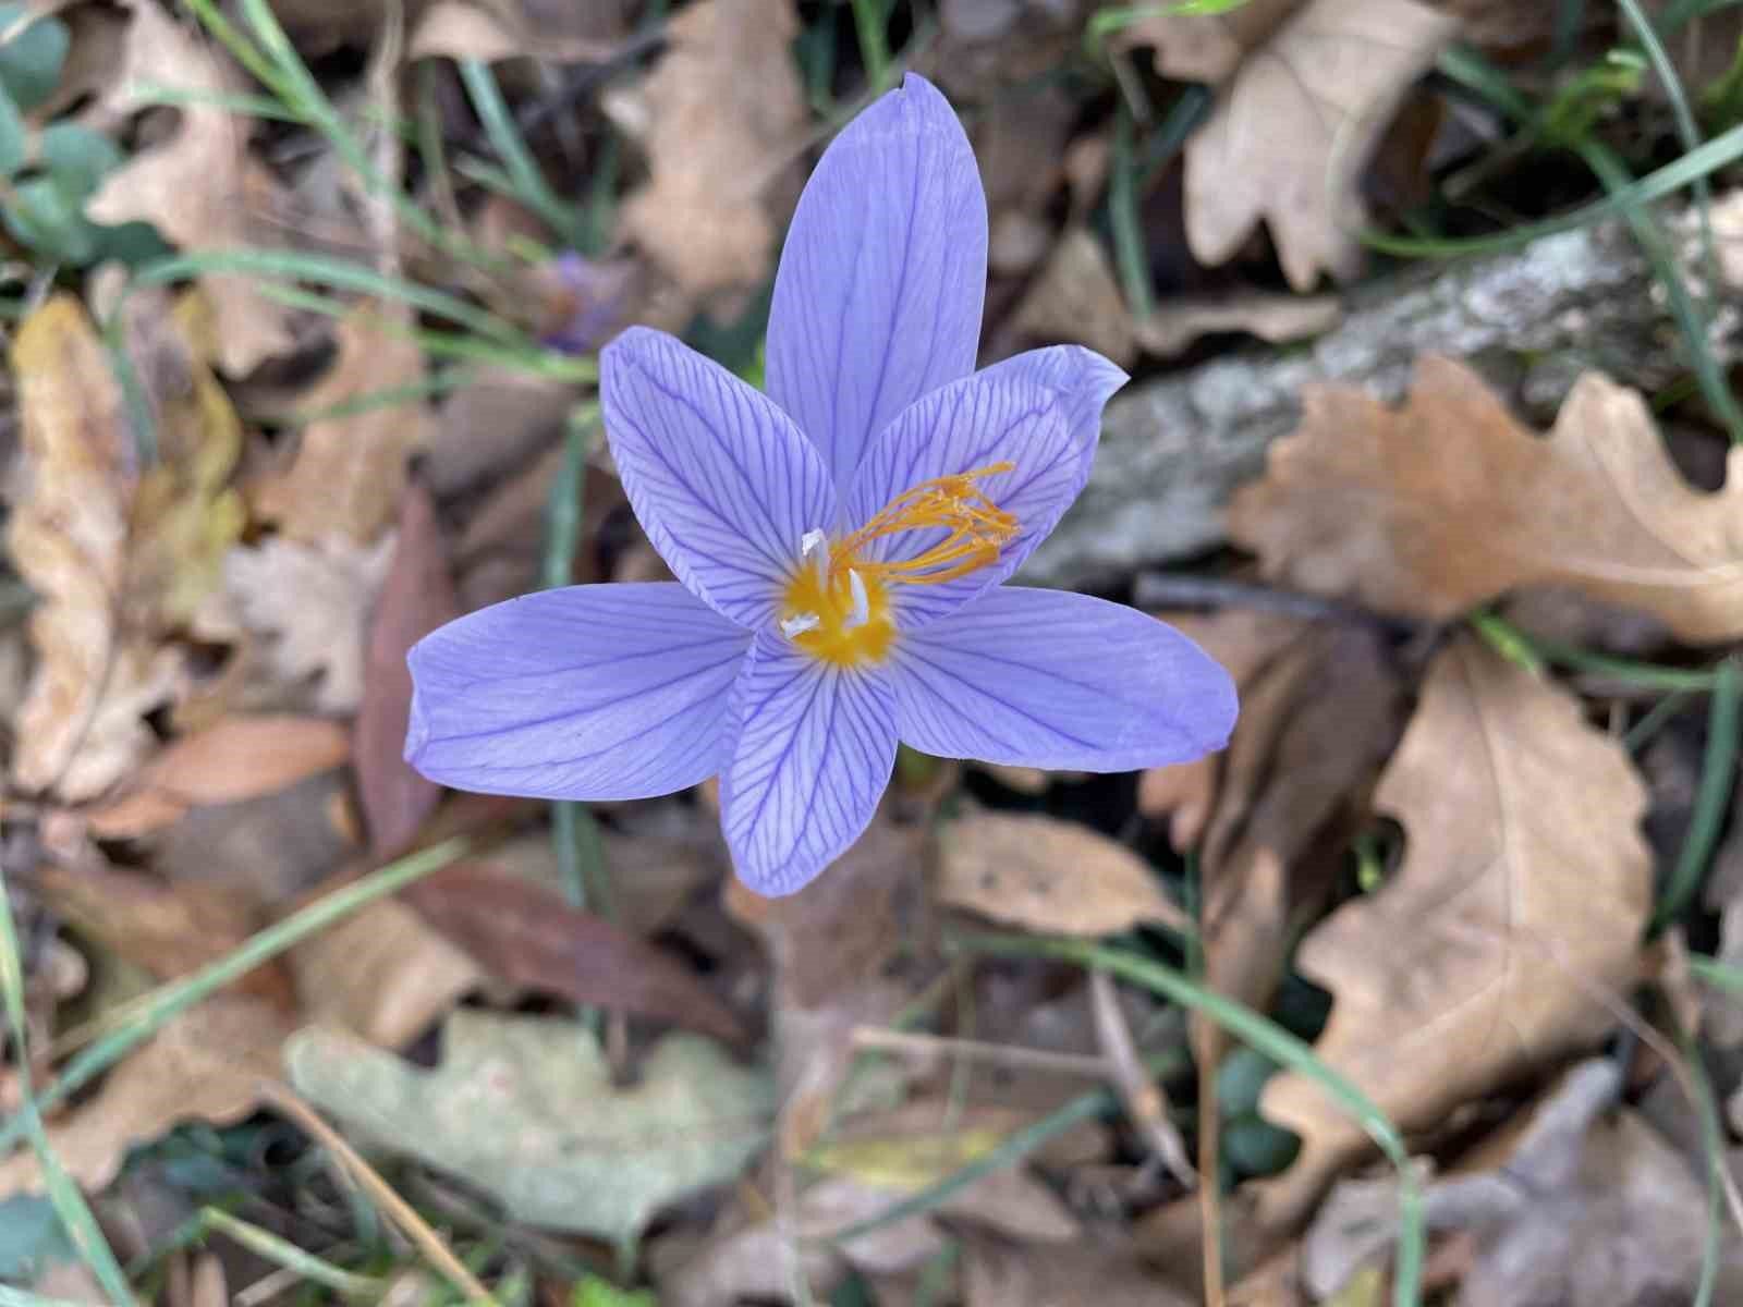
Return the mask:
M242 526L225 488L241 427L197 345L195 301L159 317L143 373L159 460L143 474L120 383L71 296L33 312L12 342L23 458L7 544L42 596L37 671L16 718L16 784L92 798L153 746L145 713L185 688L167 645L216 584L214 559Z

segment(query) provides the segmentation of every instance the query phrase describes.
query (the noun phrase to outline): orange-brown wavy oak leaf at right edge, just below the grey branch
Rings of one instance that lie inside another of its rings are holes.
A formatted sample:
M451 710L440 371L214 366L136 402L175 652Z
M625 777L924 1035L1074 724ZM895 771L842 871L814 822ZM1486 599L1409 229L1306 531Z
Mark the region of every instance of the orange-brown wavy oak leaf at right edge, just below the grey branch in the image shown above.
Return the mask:
M1724 491L1691 490L1637 392L1588 373L1546 439L1450 359L1396 410L1333 385L1304 404L1229 509L1267 577L1434 620L1570 586L1694 643L1743 636L1743 451Z

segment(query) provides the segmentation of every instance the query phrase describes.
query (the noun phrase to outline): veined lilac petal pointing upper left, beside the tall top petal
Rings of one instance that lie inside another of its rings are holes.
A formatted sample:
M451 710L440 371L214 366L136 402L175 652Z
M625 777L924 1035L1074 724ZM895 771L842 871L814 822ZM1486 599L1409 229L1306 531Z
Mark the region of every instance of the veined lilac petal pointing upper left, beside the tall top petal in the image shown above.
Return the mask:
M692 594L767 626L835 490L791 418L680 340L629 328L600 354L600 404L624 493Z

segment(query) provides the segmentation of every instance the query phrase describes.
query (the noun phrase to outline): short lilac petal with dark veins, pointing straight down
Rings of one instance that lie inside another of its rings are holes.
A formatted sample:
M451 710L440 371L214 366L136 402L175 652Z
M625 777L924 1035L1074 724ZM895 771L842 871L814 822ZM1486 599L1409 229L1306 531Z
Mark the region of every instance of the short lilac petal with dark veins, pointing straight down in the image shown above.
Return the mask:
M880 673L831 667L762 631L732 688L741 725L720 775L739 878L804 889L870 824L896 765L896 701Z

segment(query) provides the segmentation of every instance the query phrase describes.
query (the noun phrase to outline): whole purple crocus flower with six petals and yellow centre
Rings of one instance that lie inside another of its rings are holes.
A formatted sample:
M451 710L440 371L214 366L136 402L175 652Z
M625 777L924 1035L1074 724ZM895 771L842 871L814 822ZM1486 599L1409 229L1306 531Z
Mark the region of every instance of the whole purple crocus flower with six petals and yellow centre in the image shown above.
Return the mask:
M805 186L767 396L661 331L601 354L624 490L678 580L441 627L411 650L406 758L542 798L718 774L739 877L790 894L872 821L898 741L1098 772L1222 748L1234 687L1185 636L1000 586L1082 488L1126 375L1072 345L974 371L985 281L974 153L910 75Z

